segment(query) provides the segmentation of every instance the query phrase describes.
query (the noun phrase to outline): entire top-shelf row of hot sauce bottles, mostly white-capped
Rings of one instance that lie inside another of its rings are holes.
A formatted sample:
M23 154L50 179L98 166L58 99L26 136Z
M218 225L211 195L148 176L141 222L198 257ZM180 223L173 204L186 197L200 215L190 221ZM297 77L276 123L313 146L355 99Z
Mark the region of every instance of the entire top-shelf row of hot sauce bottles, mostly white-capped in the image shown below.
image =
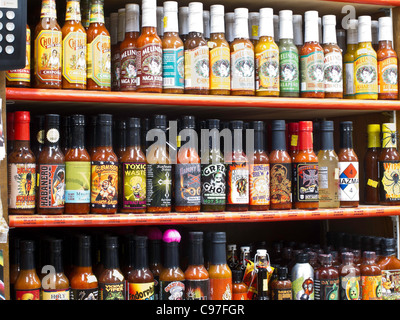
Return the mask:
M344 30L335 15L315 10L142 0L106 19L103 2L82 0L81 10L67 1L60 27L55 0L43 0L39 23L27 29L27 65L7 72L7 86L398 99L391 17L359 16Z

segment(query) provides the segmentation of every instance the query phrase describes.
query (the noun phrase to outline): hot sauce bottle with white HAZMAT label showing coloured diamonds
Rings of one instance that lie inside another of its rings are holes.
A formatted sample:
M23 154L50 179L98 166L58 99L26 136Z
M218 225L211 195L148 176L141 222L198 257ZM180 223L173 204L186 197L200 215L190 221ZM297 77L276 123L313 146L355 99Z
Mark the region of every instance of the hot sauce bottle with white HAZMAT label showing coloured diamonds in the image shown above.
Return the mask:
M359 162L353 149L353 122L340 123L339 200L340 207L358 207Z

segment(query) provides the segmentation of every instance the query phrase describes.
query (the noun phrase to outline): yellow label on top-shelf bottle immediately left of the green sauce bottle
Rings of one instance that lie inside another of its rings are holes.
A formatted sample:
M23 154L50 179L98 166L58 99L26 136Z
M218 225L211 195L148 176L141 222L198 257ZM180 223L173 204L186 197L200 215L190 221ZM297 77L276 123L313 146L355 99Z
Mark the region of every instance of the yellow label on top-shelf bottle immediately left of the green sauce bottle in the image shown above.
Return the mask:
M279 92L279 51L265 50L256 54L256 90Z

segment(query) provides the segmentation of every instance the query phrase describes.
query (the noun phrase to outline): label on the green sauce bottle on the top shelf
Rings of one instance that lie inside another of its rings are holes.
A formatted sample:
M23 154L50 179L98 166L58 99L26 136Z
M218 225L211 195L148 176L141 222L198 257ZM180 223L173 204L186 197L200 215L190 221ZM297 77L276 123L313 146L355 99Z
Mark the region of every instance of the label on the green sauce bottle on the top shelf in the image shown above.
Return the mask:
M279 53L280 92L299 92L299 55L294 51Z

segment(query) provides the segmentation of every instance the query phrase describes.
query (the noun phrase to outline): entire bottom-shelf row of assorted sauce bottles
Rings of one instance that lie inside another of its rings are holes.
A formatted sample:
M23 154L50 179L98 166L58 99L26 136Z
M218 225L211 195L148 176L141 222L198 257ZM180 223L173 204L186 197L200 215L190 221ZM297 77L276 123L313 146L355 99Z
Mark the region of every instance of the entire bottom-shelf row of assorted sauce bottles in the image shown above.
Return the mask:
M237 244L147 227L11 236L15 300L399 300L394 238Z

